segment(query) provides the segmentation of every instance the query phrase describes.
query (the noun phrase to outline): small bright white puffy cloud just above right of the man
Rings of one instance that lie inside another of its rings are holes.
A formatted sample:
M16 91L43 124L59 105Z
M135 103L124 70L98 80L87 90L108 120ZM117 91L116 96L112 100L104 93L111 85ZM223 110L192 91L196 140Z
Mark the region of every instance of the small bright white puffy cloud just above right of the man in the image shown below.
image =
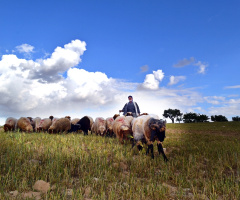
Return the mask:
M149 89L157 90L159 88L159 83L164 78L164 73L162 70L153 71L152 74L147 74L143 84L139 86L139 89Z

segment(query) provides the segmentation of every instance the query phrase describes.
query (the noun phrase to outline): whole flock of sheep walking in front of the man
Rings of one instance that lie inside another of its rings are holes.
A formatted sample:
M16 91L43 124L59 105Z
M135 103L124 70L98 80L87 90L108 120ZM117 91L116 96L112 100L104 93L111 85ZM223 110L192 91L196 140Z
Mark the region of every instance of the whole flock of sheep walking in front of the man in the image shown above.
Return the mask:
M21 117L18 120L9 117L4 124L4 130L5 132L20 130L48 133L70 133L81 130L84 135L88 135L90 131L100 136L116 136L121 143L124 143L125 140L131 140L132 147L137 145L139 150L143 147L142 143L145 143L148 145L147 154L150 151L152 158L154 158L153 143L156 140L159 154L163 155L164 161L168 161L162 147L162 142L165 139L166 121L153 114L144 113L136 118L131 113L127 113L127 116L115 114L113 117L106 119L97 117L95 120L90 116L72 120L70 116L64 118L50 116L44 119L40 117Z

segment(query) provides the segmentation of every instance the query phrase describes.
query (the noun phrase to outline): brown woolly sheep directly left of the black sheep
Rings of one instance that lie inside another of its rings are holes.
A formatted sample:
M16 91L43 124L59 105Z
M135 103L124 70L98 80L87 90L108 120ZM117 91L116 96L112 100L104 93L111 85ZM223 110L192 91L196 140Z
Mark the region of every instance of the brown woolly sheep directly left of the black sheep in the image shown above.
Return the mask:
M57 119L48 129L49 133L68 132L71 129L71 122L68 118Z

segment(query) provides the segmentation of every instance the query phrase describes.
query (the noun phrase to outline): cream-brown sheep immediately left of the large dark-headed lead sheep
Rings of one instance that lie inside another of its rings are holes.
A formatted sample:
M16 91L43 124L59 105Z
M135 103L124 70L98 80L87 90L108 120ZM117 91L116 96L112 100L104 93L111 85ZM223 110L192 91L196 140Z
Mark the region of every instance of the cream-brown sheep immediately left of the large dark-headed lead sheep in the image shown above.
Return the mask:
M132 136L132 120L132 116L119 116L114 120L113 132L122 144L124 140L127 140L129 136Z

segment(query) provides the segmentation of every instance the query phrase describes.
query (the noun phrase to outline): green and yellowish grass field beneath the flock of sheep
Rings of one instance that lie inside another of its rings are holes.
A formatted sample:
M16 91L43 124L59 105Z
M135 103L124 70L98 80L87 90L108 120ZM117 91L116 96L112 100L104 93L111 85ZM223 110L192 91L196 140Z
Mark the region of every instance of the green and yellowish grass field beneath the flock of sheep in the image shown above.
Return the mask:
M240 123L167 124L165 163L116 138L0 133L0 199L240 199ZM37 193L37 180L50 183Z

